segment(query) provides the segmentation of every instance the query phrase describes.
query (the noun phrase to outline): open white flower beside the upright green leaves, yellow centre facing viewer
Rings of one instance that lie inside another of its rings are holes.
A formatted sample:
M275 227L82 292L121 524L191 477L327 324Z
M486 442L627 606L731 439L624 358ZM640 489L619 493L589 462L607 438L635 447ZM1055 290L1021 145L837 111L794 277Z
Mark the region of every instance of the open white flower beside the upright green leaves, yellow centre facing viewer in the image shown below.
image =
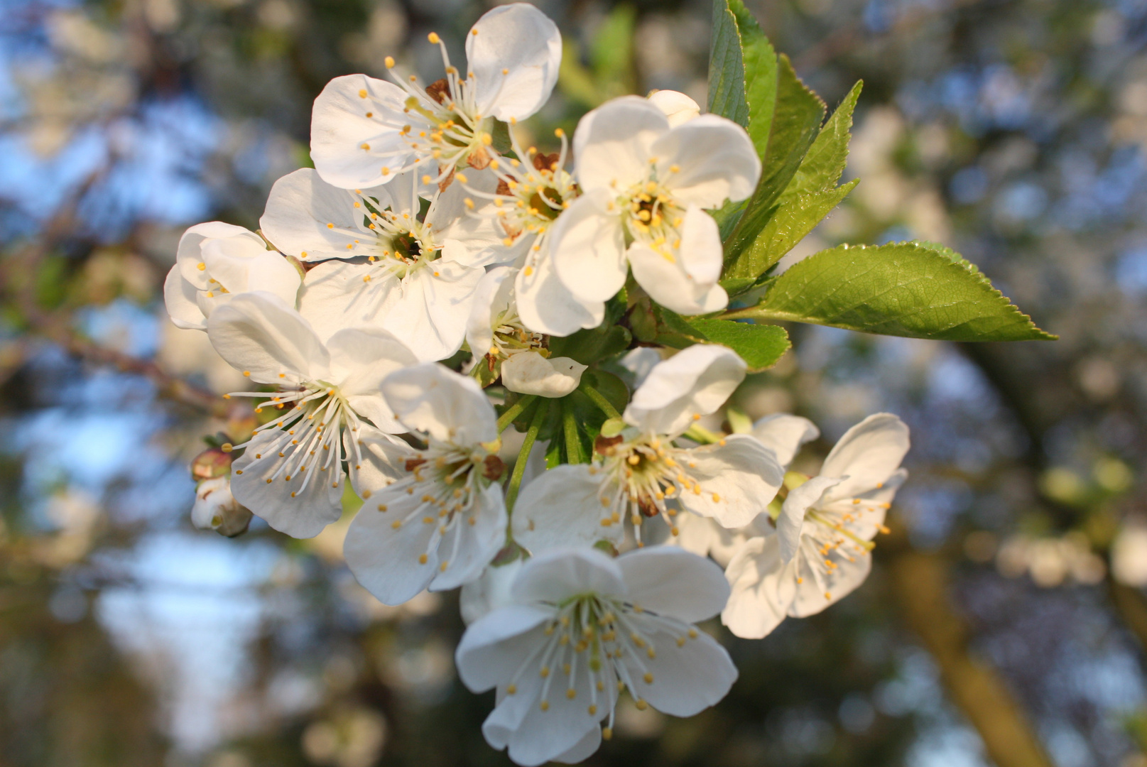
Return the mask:
M671 128L656 104L624 96L582 118L574 155L583 195L557 219L551 243L569 291L600 304L632 268L674 312L724 308L724 251L705 209L744 199L757 185L760 161L744 128L716 115Z

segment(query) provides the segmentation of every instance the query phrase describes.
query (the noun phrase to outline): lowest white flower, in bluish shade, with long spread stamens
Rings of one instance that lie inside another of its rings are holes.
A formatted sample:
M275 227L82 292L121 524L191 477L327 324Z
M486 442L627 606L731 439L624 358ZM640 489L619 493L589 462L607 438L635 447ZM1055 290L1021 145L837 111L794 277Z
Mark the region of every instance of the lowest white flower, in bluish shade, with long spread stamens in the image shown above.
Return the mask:
M716 704L736 668L693 624L727 596L715 564L670 547L530 559L514 580L514 604L473 623L455 653L468 688L498 690L486 742L528 767L577 762L612 735L622 690L638 709L674 717Z

